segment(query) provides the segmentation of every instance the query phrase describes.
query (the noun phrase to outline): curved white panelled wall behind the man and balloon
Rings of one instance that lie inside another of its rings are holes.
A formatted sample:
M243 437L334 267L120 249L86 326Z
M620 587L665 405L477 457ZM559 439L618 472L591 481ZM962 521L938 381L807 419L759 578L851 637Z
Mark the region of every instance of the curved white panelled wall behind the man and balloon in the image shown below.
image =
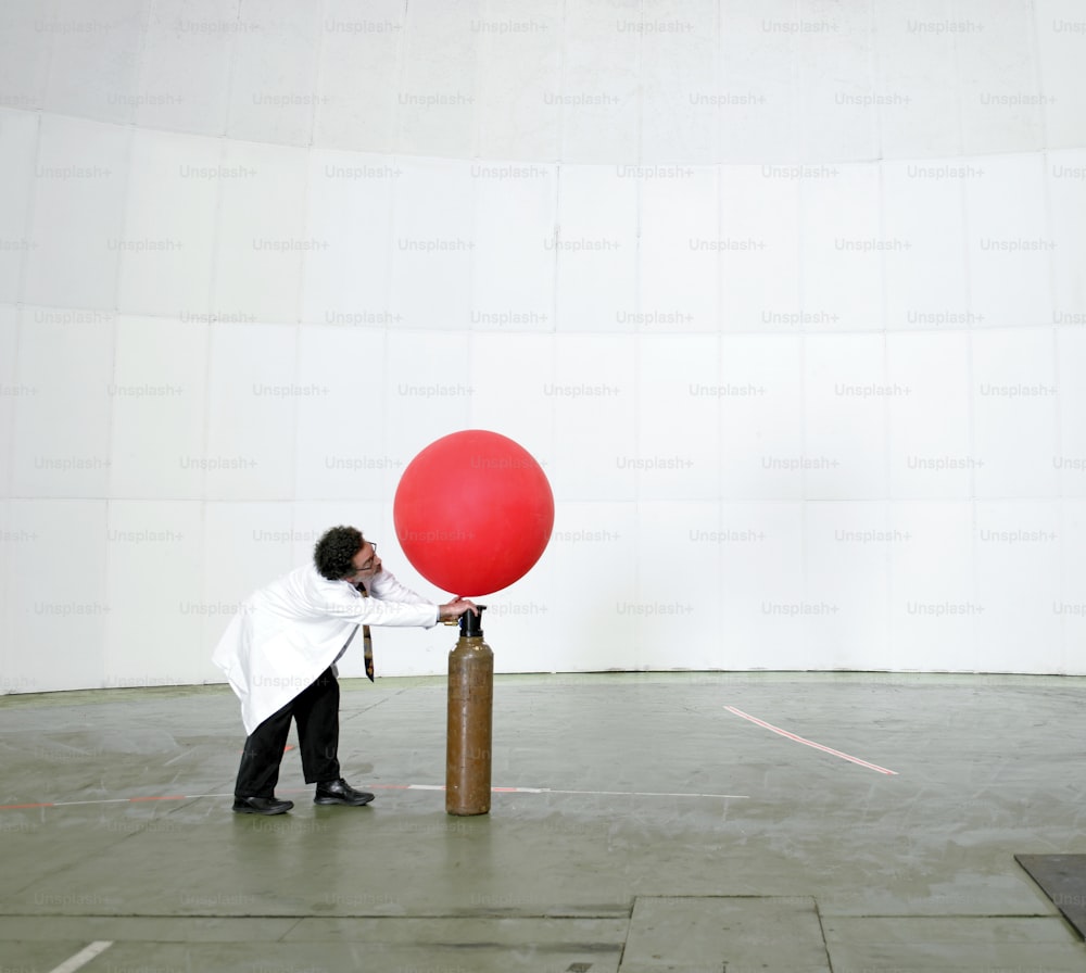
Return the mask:
M1084 53L1072 0L5 9L0 685L215 681L334 522L430 592L392 496L468 427L557 500L501 670L1086 672Z

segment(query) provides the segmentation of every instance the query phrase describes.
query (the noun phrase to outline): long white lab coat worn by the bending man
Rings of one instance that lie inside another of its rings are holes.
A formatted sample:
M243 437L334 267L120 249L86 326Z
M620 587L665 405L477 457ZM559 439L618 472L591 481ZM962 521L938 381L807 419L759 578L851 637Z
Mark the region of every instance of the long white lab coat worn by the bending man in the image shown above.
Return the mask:
M313 566L296 568L250 595L230 621L212 661L241 700L252 733L342 654L356 626L438 623L439 607L388 571L364 598L348 581L329 581Z

